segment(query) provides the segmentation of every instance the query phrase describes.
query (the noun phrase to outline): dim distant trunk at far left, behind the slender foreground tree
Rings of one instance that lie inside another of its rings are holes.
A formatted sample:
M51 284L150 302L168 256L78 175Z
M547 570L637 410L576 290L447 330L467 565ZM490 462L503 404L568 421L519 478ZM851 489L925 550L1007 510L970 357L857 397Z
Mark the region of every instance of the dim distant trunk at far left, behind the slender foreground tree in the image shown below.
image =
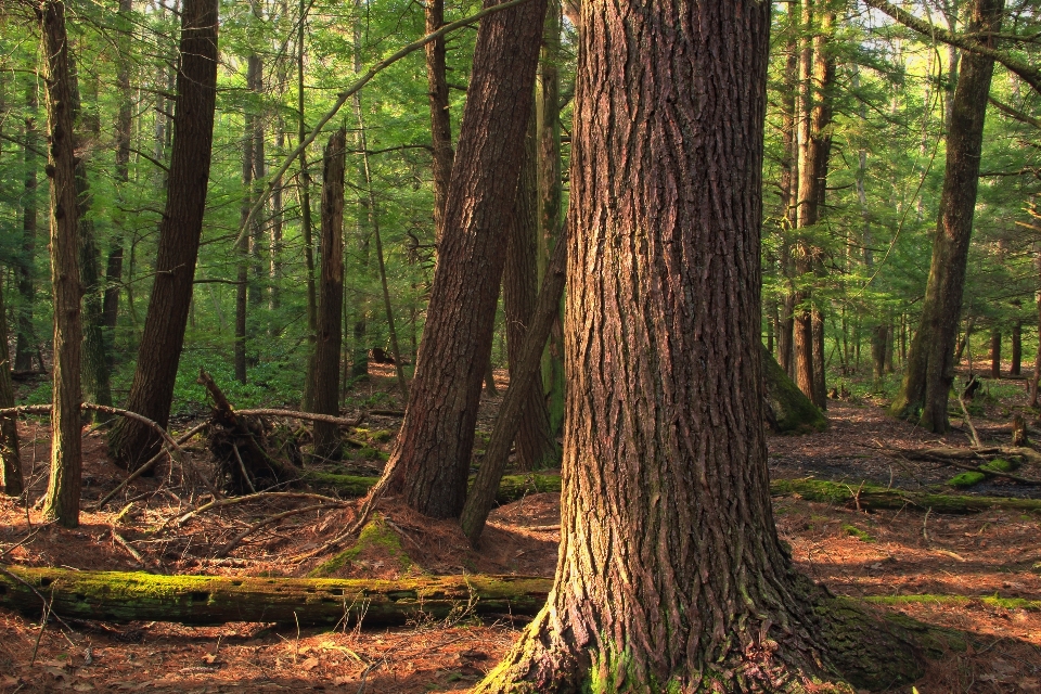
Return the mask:
M14 368L18 371L28 371L33 368L33 356L36 354L36 329L33 325L33 306L36 304L36 227L37 227L37 182L36 182L36 151L39 138L36 131L36 82L26 88L26 117L25 117L25 192L22 200L22 259L15 272L18 278L17 338L14 350ZM39 147L43 149L43 147ZM43 365L40 364L40 370Z

